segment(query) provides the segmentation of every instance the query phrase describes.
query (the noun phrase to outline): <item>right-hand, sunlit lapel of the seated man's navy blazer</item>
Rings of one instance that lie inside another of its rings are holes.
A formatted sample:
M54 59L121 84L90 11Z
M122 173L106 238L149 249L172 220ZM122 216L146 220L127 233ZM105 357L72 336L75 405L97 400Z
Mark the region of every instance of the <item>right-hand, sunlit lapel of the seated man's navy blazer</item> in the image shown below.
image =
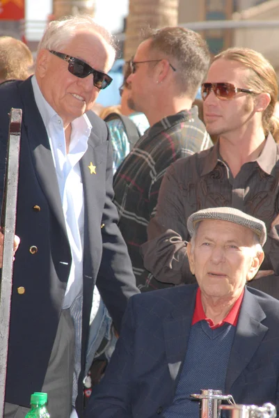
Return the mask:
M260 304L258 304L255 296L246 288L237 323L237 330L232 343L225 382L225 393L230 393L233 383L242 371L244 371L262 342L268 330L268 327L261 323L264 318L266 318L266 315L260 307Z

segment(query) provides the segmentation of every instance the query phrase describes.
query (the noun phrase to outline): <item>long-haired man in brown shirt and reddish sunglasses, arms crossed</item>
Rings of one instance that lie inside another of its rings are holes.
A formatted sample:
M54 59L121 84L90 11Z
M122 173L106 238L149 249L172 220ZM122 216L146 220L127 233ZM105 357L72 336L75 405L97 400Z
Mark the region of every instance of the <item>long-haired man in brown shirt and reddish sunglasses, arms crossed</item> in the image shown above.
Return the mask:
M145 268L165 286L195 281L186 255L191 213L233 206L262 219L268 232L264 263L248 285L279 298L277 96L276 72L262 54L230 48L214 58L202 99L207 131L218 141L168 169L142 247Z

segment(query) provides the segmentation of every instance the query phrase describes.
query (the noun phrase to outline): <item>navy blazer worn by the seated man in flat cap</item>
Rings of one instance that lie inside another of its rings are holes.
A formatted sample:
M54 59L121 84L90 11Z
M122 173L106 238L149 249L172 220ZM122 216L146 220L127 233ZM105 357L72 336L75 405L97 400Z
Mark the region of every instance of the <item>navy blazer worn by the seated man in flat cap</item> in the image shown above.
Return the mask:
M131 297L115 353L90 398L86 418L164 416L184 362L196 289L189 284ZM269 401L278 408L278 378L279 301L246 288L225 394L237 403Z

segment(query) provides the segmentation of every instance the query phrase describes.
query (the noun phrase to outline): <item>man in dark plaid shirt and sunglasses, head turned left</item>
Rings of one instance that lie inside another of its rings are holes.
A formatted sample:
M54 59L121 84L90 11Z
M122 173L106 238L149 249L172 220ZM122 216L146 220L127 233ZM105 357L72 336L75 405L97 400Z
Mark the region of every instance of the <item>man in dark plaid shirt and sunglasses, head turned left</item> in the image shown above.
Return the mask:
M161 180L168 166L212 145L192 107L209 66L209 50L189 29L165 27L146 33L130 62L128 104L148 118L143 134L116 171L113 187L119 227L127 243L136 283L145 291L150 274L140 247L154 215Z

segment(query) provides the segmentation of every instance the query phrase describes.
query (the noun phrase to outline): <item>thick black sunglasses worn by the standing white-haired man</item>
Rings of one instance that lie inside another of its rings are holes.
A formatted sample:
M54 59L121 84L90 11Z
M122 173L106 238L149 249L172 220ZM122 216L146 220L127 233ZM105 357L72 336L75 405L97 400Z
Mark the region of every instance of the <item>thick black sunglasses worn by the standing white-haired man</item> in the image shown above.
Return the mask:
M95 87L99 88L100 90L103 90L111 82L113 79L109 77L105 72L95 70L94 68L90 67L90 65L86 64L84 61L81 61L81 59L74 58L74 56L70 56L67 54L62 54L61 52L56 52L49 50L51 54L54 54L58 56L59 58L63 59L64 61L67 61L68 70L71 74L75 75L79 78L85 78L90 74L93 74L93 84Z

